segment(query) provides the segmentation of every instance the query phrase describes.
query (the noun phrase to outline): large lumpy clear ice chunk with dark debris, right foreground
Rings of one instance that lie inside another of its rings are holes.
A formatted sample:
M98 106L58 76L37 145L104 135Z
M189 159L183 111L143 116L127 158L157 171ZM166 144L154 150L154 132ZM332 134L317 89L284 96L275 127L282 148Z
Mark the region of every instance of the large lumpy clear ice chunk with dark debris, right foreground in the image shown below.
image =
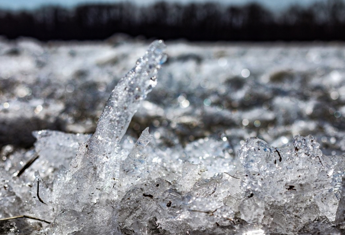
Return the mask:
M332 171L332 161L323 164L322 152L313 136L296 135L293 148L280 149L250 138L239 155L245 174L241 184L242 219L274 226L284 234L291 233L289 229L302 229L299 225L320 215L334 221L337 191L332 177L327 175Z

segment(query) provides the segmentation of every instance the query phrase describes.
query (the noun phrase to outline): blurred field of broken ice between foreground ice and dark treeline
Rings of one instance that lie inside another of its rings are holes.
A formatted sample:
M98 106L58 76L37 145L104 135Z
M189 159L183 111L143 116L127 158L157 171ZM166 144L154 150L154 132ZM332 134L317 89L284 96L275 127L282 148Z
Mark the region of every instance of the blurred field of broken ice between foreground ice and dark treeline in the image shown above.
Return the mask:
M33 130L92 133L110 91L147 47L116 36L97 43L1 40L1 145L30 147ZM167 41L157 87L129 131L147 126L166 144L257 136L282 147L313 134L324 154L343 154L342 43Z

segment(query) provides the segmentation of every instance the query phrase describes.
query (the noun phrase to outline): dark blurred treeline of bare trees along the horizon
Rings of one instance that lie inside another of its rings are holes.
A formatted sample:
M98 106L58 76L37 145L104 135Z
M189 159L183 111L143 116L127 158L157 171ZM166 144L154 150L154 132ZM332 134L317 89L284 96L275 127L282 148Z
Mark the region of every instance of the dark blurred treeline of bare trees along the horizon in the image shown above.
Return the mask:
M75 9L42 7L34 11L0 10L0 35L39 40L105 39L115 33L188 40L345 40L345 4L317 2L275 13L259 4L129 2L92 4Z

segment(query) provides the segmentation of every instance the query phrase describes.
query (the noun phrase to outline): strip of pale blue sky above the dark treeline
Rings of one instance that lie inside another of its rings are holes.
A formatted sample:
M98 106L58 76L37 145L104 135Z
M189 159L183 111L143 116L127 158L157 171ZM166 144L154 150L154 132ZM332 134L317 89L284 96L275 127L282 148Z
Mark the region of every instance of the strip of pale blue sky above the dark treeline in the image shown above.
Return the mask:
M73 7L77 4L82 3L100 3L100 2L120 2L121 0L0 0L1 9L11 9L11 10L22 10L22 9L35 9L42 5L54 4L64 7ZM128 0L132 3L138 4L150 4L157 0ZM169 0L166 0L169 1ZM171 1L171 0L170 0ZM228 5L243 5L249 2L258 2L268 9L279 11L283 10L291 4L299 4L301 6L308 6L316 1L326 1L326 0L173 0L175 2L189 3L189 2L220 2ZM143 3L145 2L145 3Z

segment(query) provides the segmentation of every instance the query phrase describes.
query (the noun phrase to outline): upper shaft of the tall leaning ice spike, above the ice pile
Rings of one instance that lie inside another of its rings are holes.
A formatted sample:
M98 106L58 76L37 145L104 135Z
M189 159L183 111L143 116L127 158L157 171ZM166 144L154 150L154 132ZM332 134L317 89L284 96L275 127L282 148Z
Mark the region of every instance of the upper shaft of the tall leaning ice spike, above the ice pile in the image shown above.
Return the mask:
M162 40L154 41L135 67L120 79L99 118L96 132L89 140L90 150L94 144L107 153L115 150L140 101L157 83L157 72L166 60L165 47Z

